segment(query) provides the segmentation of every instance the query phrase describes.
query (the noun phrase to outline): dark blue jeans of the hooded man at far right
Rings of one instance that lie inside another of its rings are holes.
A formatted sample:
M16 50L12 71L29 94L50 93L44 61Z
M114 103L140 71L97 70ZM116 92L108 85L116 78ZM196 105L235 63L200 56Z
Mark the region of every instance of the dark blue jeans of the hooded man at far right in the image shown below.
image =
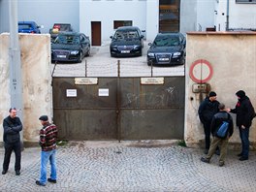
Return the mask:
M249 127L245 129L240 129L240 142L241 142L241 156L248 158L249 156Z

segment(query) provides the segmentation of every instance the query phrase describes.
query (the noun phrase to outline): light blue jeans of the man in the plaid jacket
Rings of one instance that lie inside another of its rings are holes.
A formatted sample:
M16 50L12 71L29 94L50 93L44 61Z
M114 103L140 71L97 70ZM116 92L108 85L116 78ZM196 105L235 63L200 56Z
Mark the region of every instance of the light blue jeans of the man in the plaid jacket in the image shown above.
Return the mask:
M50 164L50 178L53 180L57 179L56 171L56 149L50 151L41 151L41 177L40 182L46 184L47 182L47 170L48 161Z

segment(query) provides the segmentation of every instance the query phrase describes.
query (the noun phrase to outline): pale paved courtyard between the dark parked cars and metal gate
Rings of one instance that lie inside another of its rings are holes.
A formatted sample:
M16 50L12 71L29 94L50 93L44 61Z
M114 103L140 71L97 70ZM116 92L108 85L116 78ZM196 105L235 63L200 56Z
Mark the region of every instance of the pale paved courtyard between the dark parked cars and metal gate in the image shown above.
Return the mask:
M147 66L146 51L148 42L144 42L143 56L138 57L111 57L110 43L101 47L92 47L91 54L84 57L81 63L57 63L51 65L53 77L117 77L119 60L120 77L163 77L184 76L184 65L172 67Z

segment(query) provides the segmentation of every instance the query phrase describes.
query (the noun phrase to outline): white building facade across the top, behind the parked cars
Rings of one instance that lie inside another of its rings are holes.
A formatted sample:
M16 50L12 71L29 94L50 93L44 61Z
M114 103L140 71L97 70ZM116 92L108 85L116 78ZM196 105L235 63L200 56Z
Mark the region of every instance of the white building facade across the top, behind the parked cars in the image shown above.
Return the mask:
M9 31L8 0L0 0L0 32ZM71 23L92 45L110 41L121 25L136 25L152 41L159 32L256 29L256 0L19 0L18 20Z

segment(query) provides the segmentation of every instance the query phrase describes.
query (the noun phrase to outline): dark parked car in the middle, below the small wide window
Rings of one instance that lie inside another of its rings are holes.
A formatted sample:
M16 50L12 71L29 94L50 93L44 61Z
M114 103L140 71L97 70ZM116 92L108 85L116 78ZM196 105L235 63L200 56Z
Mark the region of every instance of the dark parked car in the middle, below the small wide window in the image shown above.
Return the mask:
M142 56L144 35L139 27L118 27L111 39L111 56Z

